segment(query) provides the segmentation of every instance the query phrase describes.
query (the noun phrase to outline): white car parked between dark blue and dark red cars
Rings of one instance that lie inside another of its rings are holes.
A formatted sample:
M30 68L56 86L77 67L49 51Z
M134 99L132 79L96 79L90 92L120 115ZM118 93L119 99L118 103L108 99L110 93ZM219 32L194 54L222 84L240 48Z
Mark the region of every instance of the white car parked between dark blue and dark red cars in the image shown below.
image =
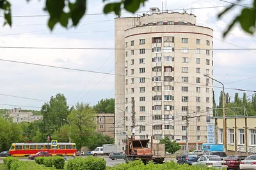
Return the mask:
M218 169L227 169L227 163L225 160L216 155L203 155L199 157L196 162L193 162L192 166L207 166L207 167L215 167Z

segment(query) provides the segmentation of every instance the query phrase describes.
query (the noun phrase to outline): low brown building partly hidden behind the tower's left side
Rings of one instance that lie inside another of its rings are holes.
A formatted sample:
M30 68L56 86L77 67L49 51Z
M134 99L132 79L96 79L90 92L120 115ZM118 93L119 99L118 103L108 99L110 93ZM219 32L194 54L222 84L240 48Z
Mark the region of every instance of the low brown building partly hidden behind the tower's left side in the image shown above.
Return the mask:
M97 113L97 132L114 138L114 113Z

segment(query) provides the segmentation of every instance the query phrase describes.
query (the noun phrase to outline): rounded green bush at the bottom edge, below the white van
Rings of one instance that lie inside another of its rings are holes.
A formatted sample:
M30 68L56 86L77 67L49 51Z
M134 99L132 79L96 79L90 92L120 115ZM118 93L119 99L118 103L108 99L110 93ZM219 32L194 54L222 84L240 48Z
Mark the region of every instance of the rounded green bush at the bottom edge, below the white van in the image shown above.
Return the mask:
M106 168L106 160L92 156L86 158L76 157L75 159L68 160L66 167L68 170L105 170Z

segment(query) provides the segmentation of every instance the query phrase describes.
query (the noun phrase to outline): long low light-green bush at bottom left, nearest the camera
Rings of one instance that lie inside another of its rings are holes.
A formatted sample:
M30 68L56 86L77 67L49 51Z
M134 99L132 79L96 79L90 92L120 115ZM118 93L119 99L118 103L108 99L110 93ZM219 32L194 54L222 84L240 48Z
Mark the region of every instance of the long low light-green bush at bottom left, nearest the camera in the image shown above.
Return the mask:
M34 162L15 161L11 164L10 170L53 170L54 167L45 167Z

